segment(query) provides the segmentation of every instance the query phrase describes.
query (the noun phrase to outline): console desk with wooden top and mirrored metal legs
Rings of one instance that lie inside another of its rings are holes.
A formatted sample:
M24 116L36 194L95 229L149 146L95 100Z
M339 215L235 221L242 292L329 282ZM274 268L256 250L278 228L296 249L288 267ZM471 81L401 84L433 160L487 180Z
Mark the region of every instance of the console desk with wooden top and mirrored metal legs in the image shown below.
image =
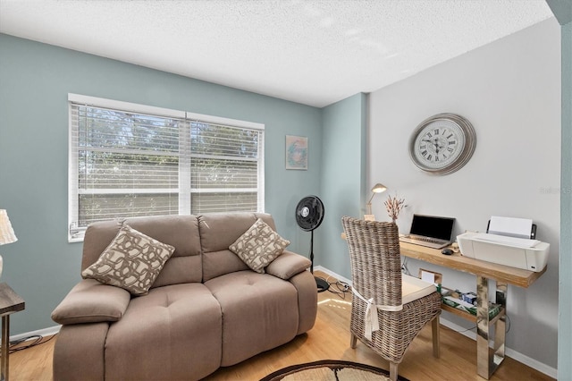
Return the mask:
M442 304L442 309L476 322L476 372L480 377L489 379L505 356L505 313L508 284L527 288L544 274L546 267L543 268L543 271L536 273L463 257L460 253L453 253L450 256L443 255L441 250L406 242L400 243L400 252L404 257L423 260L434 265L476 275L476 317L446 304ZM489 318L489 280L496 281L495 302L501 305L501 311L494 318ZM492 351L489 351L489 328L492 325L494 325L495 334Z

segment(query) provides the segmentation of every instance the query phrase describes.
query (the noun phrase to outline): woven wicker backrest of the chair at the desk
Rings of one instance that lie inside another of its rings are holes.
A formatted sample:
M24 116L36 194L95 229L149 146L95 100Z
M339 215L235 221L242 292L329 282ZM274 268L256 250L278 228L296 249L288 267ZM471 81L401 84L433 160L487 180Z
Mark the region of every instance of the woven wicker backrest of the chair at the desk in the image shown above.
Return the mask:
M400 234L394 223L341 217L351 258L352 287L375 304L400 306Z

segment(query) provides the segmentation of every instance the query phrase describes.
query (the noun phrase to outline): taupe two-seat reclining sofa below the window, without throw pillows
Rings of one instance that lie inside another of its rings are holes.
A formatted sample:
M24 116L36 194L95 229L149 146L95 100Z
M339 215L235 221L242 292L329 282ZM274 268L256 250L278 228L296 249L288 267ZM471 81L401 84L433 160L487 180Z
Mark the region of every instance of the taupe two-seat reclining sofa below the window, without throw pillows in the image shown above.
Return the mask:
M317 292L307 258L284 250L259 274L229 250L257 218L275 230L272 216L254 213L126 220L174 252L146 295L94 279L73 287L52 314L63 325L54 379L199 379L311 329ZM82 270L119 229L88 227Z

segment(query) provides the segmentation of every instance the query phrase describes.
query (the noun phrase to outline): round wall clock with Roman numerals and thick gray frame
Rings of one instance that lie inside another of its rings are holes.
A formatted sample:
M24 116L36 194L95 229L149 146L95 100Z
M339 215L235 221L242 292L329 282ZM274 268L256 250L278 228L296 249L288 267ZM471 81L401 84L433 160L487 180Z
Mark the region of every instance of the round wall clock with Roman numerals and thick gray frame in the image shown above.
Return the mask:
M409 139L409 155L425 174L452 174L473 156L475 129L458 114L425 119Z

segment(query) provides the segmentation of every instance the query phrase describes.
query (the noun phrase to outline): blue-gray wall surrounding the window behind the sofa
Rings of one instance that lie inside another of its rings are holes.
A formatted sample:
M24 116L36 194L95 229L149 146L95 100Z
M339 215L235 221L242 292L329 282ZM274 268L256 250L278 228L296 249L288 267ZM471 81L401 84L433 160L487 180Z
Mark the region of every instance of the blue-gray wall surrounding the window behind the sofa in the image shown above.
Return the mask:
M11 334L55 326L52 309L80 279L81 243L66 233L68 93L265 123L265 210L307 254L294 208L320 191L320 109L0 34L0 208L19 239L0 247L1 280L26 301ZM287 134L307 136L307 171L285 170Z

